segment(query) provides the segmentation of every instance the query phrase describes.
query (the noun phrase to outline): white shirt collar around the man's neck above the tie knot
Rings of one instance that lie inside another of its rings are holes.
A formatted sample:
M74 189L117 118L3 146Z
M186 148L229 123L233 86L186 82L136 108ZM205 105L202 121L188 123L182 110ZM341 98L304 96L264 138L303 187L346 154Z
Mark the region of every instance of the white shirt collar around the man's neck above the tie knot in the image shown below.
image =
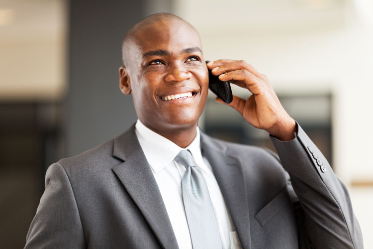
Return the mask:
M200 150L200 134L198 127L196 131L197 134L195 138L186 149L190 150L194 160L198 164L198 161L202 159L202 155ZM163 137L149 129L142 124L140 120L137 120L136 122L135 132L140 146L144 151L145 157L155 173L159 172L161 169L170 164L174 160L175 156L177 156L177 154L184 149L166 137Z

